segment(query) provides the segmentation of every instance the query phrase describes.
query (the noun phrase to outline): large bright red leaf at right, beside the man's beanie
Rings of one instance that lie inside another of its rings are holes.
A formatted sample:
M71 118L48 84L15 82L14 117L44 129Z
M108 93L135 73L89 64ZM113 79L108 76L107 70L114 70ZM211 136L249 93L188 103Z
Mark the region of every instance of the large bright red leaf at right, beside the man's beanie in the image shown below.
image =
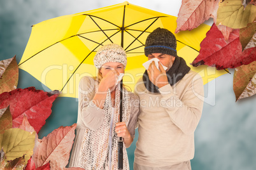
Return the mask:
M236 68L256 60L255 48L242 51L239 41L239 30L231 32L229 40L225 41L222 32L217 29L215 23L206 33L206 38L200 44L199 55L192 62L194 67L199 65L215 66L217 70Z

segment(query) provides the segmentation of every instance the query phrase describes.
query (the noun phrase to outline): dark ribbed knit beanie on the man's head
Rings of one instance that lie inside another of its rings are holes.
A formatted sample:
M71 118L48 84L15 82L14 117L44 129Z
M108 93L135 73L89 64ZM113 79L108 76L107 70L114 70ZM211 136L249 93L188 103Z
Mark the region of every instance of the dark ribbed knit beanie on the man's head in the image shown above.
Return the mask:
M176 37L173 33L159 27L153 30L146 38L145 55L163 53L177 56L176 46Z

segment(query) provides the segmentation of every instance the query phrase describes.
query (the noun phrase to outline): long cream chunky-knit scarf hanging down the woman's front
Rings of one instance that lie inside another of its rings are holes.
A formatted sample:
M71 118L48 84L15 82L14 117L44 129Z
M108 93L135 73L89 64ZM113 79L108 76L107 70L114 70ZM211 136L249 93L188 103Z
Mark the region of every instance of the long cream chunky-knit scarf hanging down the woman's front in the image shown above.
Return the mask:
M96 81L97 91L99 83ZM122 121L128 125L128 121L131 115L131 98L129 92L123 88L123 116ZM118 169L117 167L117 156L118 156L118 136L115 133L115 124L118 122L118 115L120 110L120 83L118 84L115 91L115 113L113 115L113 130L112 130L112 150L109 148L109 133L110 133L110 122L111 122L111 95L108 90L106 100L104 103L104 121L103 124L96 131L86 129L83 135L82 150L80 152L80 159L78 166L85 170L92 169ZM123 147L124 153L124 169L129 170L129 162L127 157L126 148ZM109 152L111 158L109 158Z

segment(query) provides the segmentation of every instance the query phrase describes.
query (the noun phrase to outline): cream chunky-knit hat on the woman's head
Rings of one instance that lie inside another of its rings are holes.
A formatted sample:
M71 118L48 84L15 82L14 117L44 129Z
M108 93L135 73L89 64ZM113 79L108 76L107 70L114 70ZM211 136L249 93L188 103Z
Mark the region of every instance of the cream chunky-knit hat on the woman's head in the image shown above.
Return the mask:
M102 46L94 56L94 65L100 69L104 63L118 62L124 65L127 64L127 57L124 49L118 44L107 44Z

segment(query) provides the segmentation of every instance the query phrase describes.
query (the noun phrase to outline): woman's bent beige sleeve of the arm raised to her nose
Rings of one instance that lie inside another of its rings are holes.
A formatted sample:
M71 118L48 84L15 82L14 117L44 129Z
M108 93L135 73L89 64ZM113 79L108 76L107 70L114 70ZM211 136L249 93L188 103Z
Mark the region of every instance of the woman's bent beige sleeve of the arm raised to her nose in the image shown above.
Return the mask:
M85 128L96 130L104 119L103 109L97 107L92 99L95 95L95 81L92 77L83 77L79 84L78 118ZM80 115L79 115L80 114Z

